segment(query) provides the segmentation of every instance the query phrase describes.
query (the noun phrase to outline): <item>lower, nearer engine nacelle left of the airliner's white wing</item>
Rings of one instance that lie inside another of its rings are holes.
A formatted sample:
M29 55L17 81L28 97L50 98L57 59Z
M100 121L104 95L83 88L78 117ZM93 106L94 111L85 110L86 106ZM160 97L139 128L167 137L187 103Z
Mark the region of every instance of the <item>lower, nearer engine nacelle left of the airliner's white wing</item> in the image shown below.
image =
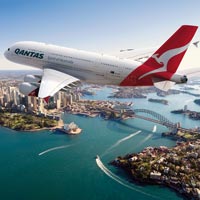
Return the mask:
M19 85L19 91L26 96L38 96L40 84L23 82Z

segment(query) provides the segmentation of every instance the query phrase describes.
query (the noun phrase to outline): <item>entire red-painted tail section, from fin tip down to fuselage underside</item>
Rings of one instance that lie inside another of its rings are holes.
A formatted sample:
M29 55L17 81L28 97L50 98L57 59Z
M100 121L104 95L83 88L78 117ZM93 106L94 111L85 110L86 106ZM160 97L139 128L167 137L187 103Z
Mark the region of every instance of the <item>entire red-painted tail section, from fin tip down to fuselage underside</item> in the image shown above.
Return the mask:
M197 26L181 26L146 62L136 68L121 85L152 85L152 78L170 80L192 40ZM130 77L134 77L131 83Z

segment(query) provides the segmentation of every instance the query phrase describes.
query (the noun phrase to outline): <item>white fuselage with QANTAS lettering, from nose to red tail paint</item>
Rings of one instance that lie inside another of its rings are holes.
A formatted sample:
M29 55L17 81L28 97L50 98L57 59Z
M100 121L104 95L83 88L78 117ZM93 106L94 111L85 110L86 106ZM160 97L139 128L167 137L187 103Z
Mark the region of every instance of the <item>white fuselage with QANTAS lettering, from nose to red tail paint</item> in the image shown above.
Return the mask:
M88 83L119 85L141 63L38 42L18 42L5 52L13 62L52 68Z

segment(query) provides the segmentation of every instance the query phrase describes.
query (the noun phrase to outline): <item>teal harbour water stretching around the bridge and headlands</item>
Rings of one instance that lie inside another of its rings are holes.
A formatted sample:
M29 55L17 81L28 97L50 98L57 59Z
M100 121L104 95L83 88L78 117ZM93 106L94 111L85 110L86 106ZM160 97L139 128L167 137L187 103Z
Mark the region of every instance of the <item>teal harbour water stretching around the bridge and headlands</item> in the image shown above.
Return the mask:
M104 88L94 97L85 98L105 100L110 91ZM192 128L199 126L199 121L171 114L170 110L184 104L191 110L200 110L193 99L187 94L171 95L167 106L147 99L123 101L133 101L134 108L151 109ZM1 199L183 199L165 187L132 183L126 174L108 164L118 155L138 152L146 146L174 146L174 141L161 137L165 127L140 119L116 122L66 114L63 118L66 123L78 124L82 133L69 136L0 128ZM96 162L97 154L100 162Z

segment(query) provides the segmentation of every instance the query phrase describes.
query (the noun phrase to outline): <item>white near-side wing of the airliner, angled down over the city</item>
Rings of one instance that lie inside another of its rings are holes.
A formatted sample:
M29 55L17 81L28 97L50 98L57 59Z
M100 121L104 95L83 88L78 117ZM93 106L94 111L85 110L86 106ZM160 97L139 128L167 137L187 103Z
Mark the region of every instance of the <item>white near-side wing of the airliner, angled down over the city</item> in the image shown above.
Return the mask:
M49 98L62 88L79 81L79 79L55 69L44 68L38 97L48 102Z

